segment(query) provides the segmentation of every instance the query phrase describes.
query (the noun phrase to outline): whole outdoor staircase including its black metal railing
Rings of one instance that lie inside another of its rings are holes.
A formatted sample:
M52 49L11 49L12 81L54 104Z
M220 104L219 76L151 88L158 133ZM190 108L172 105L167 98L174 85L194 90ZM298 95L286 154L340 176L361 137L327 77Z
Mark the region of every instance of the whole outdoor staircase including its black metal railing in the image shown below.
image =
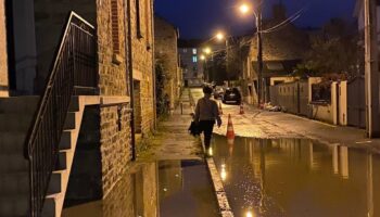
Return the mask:
M0 98L0 217L61 216L86 105L97 94L94 28L72 12L41 97Z

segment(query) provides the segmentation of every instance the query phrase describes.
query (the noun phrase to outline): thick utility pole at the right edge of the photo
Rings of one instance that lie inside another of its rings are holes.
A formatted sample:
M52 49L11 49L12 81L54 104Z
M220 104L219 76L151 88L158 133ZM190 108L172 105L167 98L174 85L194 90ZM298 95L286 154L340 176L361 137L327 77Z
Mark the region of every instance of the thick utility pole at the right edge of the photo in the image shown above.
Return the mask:
M376 0L364 2L366 130L368 138L375 138L380 136L377 3Z

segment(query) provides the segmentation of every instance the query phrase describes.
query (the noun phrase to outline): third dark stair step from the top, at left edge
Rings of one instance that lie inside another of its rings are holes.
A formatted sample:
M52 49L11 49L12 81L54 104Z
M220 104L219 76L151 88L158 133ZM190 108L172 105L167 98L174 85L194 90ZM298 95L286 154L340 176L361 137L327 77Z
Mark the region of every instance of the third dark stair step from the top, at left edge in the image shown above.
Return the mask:
M0 131L0 153L21 154L24 150L25 132Z

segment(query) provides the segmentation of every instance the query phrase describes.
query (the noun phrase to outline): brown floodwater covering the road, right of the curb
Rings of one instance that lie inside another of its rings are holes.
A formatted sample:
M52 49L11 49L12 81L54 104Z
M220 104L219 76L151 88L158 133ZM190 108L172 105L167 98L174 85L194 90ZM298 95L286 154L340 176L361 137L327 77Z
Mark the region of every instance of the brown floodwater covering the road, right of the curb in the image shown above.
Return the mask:
M380 156L311 140L213 139L237 217L379 217Z

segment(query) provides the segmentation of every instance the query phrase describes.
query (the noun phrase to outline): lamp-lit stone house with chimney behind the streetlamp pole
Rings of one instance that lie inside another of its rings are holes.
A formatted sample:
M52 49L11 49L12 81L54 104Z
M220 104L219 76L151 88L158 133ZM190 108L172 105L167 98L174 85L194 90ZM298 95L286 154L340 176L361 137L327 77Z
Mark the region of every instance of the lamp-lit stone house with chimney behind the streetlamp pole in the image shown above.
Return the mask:
M287 18L286 9L282 4L274 7L273 18L263 21L263 28L268 29ZM246 42L249 41L249 42ZM251 40L244 38L242 46L242 91L248 103L257 103L257 37ZM309 48L308 35L295 27L293 24L263 35L263 82L264 99L269 101L270 79L276 82L289 80L293 68L302 62ZM274 79L276 78L276 79Z

